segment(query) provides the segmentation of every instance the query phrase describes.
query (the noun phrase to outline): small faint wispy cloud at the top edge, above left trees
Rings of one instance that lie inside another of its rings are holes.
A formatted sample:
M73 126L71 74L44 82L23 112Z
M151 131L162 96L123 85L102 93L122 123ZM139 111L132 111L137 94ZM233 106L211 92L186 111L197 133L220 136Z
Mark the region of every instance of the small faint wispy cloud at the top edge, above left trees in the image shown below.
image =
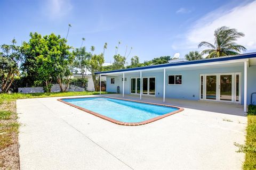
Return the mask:
M57 19L61 16L65 16L73 8L70 0L47 0L45 3L46 6L43 7L43 12L51 19Z

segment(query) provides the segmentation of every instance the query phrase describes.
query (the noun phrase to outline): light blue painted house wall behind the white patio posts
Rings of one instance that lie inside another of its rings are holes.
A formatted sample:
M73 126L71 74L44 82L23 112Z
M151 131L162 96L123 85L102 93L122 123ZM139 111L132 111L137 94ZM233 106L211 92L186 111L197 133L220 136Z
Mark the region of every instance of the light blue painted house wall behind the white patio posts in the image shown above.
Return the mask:
M244 67L222 67L218 69L197 69L186 71L167 71L166 70L166 98L199 100L200 89L200 74L207 73L229 73L229 72L241 72L241 103L243 104L244 98ZM181 85L167 85L167 75L169 74L181 74ZM124 93L130 94L131 78L140 77L138 73L125 73L127 81L124 85ZM156 95L155 97L163 97L163 72L147 71L142 72L142 77L155 77L156 78ZM110 84L110 78L115 78L115 84ZM123 91L122 76L107 76L107 91L117 92L117 86L120 87L120 92ZM252 92L256 92L256 66L250 66L247 68L247 104L250 104ZM154 97L154 96L152 96Z

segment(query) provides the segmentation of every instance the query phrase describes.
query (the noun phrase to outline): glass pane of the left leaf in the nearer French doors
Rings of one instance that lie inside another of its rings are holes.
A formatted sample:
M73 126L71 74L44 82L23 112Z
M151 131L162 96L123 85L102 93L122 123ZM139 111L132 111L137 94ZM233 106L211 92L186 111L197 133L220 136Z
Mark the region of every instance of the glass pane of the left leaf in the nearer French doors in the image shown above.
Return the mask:
M206 99L216 100L217 96L217 75L206 75Z

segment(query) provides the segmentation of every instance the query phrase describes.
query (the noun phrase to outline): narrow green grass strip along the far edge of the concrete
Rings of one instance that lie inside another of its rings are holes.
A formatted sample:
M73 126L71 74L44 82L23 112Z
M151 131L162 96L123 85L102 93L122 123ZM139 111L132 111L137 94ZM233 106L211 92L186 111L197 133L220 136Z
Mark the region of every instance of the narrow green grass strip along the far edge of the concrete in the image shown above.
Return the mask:
M0 94L0 104L3 102L10 102L16 99L26 98L41 98L41 97L62 97L62 96L82 96L82 95L99 95L99 91L78 91L78 92L52 92L52 93L37 93L37 94ZM110 94L109 92L102 91L101 94Z

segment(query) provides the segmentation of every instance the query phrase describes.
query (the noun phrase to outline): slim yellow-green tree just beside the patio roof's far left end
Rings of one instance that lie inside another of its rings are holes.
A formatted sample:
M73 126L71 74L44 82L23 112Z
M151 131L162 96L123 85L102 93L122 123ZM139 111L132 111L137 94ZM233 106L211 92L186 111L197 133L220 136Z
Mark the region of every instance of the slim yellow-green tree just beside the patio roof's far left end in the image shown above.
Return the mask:
M96 72L103 71L103 63L105 62L104 56L101 53L100 55L93 55L89 60L88 70L92 73L92 80L94 84L95 91L100 90L100 79L99 75L95 74Z

